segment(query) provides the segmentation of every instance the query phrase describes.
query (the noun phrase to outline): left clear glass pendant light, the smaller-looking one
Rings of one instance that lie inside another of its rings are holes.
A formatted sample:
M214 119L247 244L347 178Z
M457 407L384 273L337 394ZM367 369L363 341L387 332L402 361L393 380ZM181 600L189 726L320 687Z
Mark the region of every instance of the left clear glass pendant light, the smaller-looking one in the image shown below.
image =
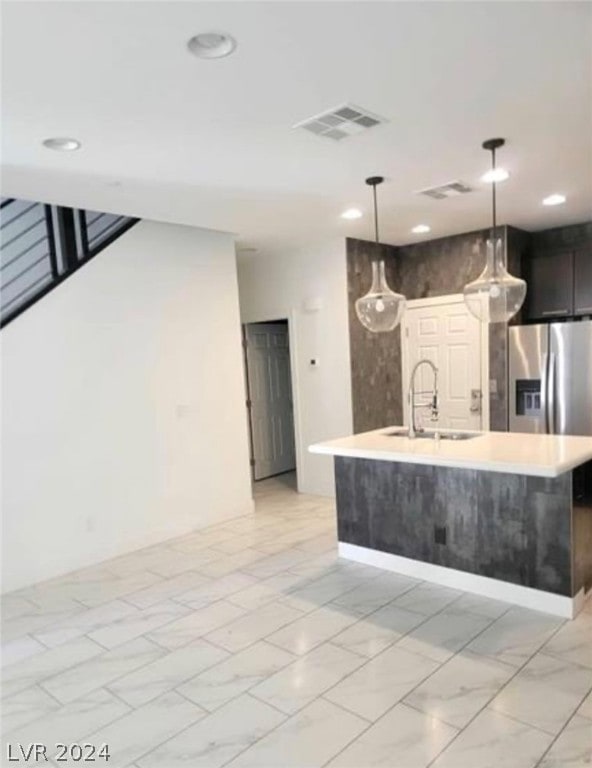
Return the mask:
M376 205L376 187L382 184L382 176L371 176L366 184L372 187L374 198L374 235L376 252L372 256L372 285L365 296L356 301L356 314L364 328L372 333L392 331L399 325L405 312L406 300L400 293L395 293L386 281L384 259L378 257L378 208Z

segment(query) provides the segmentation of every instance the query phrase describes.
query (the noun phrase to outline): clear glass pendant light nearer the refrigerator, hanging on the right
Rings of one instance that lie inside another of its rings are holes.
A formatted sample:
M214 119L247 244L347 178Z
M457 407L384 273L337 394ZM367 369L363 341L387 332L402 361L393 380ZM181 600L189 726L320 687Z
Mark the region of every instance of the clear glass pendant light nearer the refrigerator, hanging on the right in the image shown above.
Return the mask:
M496 178L495 150L503 147L504 139L488 139L483 149L491 152L491 177ZM485 269L472 283L464 287L465 303L482 323L507 323L524 303L526 283L506 269L502 238L497 233L496 181L491 182L493 227L487 240Z

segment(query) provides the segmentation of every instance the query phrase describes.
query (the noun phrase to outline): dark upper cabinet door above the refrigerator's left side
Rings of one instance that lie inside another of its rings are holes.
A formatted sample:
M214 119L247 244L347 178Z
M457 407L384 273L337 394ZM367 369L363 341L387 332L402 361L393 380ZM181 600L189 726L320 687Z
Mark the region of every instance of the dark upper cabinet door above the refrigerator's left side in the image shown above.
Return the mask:
M529 319L549 320L573 315L573 250L533 253L529 260L527 280Z

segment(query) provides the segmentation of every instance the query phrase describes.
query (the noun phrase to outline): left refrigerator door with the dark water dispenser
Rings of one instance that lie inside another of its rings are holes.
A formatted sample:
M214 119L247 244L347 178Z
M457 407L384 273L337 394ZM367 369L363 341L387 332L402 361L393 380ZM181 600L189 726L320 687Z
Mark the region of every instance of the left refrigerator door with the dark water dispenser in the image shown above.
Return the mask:
M510 432L547 432L549 326L509 329Z

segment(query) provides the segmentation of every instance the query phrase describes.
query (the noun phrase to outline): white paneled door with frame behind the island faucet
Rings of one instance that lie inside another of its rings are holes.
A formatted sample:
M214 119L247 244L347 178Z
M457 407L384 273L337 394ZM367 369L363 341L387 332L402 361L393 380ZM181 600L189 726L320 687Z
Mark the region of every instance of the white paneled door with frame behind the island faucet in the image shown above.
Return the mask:
M422 359L438 368L438 426L446 429L488 429L487 334L469 312L462 296L411 301L401 325L403 349L403 402L409 424L409 379L413 366ZM416 390L431 390L433 372L422 366ZM428 398L418 395L417 402ZM426 428L429 410L417 409L416 423Z

